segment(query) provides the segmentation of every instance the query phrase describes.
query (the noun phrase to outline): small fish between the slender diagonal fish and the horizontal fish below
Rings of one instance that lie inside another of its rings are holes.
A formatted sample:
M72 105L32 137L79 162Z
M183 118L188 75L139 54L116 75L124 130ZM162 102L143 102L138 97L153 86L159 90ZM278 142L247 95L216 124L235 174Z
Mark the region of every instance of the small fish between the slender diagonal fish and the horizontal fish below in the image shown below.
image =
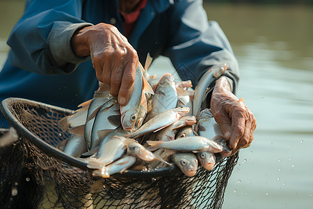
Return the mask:
M172 125L163 128L159 132L157 132L157 136L155 138L156 141L172 141L175 140L175 134L177 134L179 128L185 127L186 125L193 125L195 124L196 118L195 116L184 116L180 118Z

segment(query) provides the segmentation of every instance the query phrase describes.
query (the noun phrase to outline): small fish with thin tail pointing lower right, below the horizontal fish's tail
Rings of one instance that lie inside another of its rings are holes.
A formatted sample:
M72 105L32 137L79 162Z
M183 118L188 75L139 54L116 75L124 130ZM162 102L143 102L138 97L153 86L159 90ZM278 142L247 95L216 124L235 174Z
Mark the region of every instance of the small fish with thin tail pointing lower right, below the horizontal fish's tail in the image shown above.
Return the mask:
M152 152L147 150L144 146L142 146L135 140L134 142L132 142L131 144L127 146L127 155L139 157L141 160L144 160L144 161L159 160L165 164L170 165L168 162L161 159L157 155L154 155Z

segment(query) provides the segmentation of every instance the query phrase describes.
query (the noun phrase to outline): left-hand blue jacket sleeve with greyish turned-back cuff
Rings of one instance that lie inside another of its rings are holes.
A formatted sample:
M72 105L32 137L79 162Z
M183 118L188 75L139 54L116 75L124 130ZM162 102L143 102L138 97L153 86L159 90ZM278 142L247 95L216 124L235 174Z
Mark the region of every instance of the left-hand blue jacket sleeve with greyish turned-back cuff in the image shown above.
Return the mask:
M90 59L72 52L77 29L92 25L81 20L82 1L28 0L25 13L8 38L12 65L40 74L65 74Z

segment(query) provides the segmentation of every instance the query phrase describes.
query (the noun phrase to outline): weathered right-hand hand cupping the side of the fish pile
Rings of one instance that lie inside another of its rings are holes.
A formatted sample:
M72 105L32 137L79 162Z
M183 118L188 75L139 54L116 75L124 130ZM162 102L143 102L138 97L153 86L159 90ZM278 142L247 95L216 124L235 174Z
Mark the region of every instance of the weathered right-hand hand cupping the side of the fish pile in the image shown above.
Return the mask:
M236 98L232 93L225 77L216 82L211 98L211 112L222 128L226 141L230 142L231 155L250 146L257 127L255 116L243 99Z

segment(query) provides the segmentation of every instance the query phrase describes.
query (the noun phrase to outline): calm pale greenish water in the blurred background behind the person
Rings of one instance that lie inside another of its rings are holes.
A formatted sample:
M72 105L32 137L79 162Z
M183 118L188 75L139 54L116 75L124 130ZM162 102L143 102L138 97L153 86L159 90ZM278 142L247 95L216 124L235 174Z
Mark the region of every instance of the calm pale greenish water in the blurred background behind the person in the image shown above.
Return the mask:
M24 1L0 1L0 66ZM255 114L250 148L241 150L223 209L313 208L313 8L205 4L239 60L237 95ZM152 71L173 72L160 58Z

